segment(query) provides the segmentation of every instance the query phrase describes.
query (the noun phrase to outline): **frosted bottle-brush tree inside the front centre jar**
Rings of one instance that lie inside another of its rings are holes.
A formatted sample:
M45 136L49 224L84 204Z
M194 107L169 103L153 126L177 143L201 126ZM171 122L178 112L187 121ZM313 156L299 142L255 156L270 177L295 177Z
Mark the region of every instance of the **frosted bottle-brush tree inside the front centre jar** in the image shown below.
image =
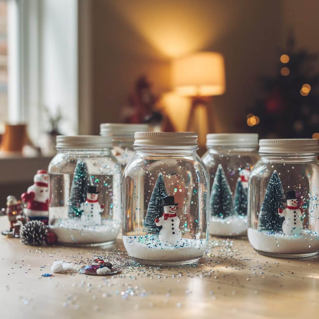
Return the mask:
M165 187L164 177L162 173L159 173L150 202L148 203L144 220L145 231L148 234L158 234L161 229L161 226L155 225L155 218L163 216L164 207L162 198L166 196L168 195Z

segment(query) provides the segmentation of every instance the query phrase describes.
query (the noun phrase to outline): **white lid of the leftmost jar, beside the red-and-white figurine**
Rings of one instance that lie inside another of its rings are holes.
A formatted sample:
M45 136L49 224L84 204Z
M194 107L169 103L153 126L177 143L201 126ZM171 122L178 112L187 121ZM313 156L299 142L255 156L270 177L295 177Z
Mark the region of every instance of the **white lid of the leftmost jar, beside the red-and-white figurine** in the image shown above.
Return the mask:
M112 137L99 135L58 135L56 148L64 149L100 149L111 148Z

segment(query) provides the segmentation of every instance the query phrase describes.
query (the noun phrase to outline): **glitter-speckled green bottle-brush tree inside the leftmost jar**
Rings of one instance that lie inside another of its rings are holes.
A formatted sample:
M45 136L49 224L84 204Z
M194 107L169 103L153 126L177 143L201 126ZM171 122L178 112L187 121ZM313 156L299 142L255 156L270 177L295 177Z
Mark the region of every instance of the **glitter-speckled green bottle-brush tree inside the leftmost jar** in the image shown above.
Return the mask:
M80 204L85 202L88 187L88 175L86 164L78 161L74 170L73 181L69 199L69 217L80 217L82 211Z

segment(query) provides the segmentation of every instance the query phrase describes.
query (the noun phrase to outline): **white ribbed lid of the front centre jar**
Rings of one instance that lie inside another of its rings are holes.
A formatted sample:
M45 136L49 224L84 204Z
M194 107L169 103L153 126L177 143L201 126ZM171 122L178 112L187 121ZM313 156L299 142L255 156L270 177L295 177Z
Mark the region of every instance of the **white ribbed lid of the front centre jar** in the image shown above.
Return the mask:
M134 146L161 147L161 146L197 146L195 132L136 132Z

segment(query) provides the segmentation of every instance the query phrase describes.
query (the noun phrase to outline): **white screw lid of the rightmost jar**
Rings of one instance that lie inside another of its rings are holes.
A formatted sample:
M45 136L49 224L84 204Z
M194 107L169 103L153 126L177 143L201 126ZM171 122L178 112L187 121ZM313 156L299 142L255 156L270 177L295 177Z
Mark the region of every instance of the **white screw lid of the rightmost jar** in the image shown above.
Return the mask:
M279 154L317 154L319 145L317 139L261 139L259 153Z

